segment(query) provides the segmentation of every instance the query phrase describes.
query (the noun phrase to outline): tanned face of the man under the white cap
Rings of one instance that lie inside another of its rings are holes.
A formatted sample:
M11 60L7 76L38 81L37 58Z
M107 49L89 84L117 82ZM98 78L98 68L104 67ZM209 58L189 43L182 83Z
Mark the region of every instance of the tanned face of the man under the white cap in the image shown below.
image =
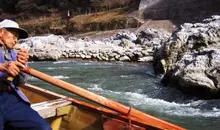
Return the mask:
M8 48L12 49L18 41L18 33L11 29L0 29L0 41Z

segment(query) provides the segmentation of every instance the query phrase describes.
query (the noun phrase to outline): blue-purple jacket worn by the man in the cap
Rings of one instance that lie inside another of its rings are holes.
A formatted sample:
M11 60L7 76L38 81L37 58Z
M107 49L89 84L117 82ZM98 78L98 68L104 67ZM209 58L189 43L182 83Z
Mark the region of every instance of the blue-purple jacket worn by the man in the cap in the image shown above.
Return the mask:
M8 50L4 46L0 46L0 63L5 63L9 61L16 61L17 54L13 50ZM29 103L27 97L22 93L22 91L16 86L22 86L25 83L25 79L27 79L27 75L24 73L20 73L16 76L13 82L8 82L8 73L0 71L0 87L4 85L10 85L12 89L18 94L18 96L25 102Z

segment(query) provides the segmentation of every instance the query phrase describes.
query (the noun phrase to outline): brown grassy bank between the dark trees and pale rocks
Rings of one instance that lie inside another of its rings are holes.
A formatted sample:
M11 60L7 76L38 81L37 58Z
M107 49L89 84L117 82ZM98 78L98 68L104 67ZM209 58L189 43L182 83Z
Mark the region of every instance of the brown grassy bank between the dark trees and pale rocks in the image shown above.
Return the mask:
M33 34L69 34L89 31L105 31L135 28L140 23L128 16L126 8L114 9L95 14L76 15L68 19L59 14L33 17L31 20L19 19L18 23Z

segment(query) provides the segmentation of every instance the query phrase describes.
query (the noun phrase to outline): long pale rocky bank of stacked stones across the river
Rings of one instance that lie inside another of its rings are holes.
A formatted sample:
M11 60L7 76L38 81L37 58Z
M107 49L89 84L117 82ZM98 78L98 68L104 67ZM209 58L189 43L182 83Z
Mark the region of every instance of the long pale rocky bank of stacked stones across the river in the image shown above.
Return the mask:
M30 37L20 41L30 51L33 60L59 60L60 58L95 59L102 61L152 62L153 50L160 47L170 34L146 29L139 34L128 31L111 38L92 40L49 35Z

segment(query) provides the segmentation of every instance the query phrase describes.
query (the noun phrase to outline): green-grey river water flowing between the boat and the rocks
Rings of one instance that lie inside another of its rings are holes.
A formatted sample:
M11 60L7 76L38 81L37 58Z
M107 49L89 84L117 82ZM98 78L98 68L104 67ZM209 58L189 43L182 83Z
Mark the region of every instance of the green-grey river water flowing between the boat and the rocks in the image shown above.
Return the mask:
M220 129L220 100L199 100L163 87L151 64L64 60L29 66L187 129ZM34 77L28 83L80 99Z

